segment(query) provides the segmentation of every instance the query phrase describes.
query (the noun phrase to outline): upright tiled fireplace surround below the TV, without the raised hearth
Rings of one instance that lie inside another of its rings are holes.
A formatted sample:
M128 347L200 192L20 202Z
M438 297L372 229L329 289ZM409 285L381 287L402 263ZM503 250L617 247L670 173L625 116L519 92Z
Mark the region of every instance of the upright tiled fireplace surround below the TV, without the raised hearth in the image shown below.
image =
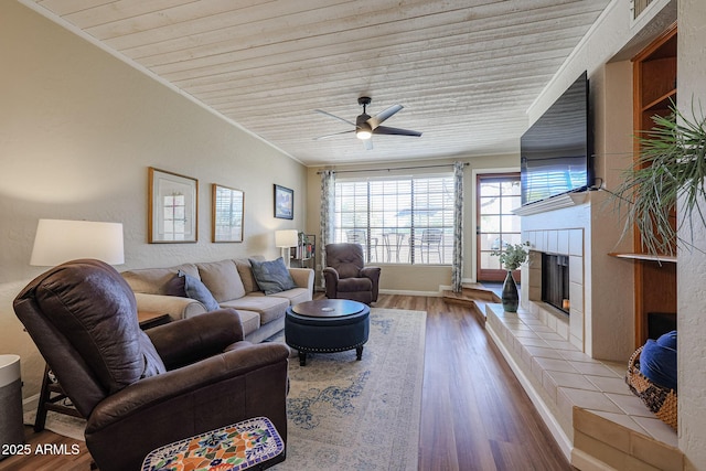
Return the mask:
M518 211L531 249L521 306L590 357L623 362L634 351L633 268L609 256L622 227L605 197L578 193ZM543 253L568 259L568 318L542 301Z

